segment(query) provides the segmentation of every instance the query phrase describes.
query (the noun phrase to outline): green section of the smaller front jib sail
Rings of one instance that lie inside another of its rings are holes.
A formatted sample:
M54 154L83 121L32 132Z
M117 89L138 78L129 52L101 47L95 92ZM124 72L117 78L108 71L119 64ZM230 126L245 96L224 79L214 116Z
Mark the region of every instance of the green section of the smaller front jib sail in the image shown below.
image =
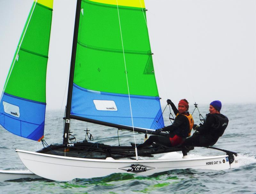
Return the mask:
M39 3L34 4L21 35L11 72L7 76L4 92L45 103L52 9Z

